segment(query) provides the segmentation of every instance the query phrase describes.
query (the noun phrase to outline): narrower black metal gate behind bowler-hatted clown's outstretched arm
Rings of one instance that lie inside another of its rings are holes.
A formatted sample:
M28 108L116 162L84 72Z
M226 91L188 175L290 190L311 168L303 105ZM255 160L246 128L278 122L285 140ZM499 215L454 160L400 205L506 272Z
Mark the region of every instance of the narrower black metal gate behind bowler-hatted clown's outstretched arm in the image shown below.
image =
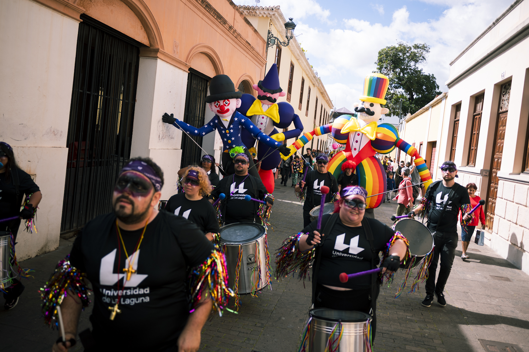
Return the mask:
M186 106L184 108L184 122L195 127L204 126L206 114L207 84L210 77L202 73L189 69L187 76ZM180 168L187 165L194 165L200 159L202 150L190 138L193 138L198 145L202 146L202 136L182 136L182 159Z

